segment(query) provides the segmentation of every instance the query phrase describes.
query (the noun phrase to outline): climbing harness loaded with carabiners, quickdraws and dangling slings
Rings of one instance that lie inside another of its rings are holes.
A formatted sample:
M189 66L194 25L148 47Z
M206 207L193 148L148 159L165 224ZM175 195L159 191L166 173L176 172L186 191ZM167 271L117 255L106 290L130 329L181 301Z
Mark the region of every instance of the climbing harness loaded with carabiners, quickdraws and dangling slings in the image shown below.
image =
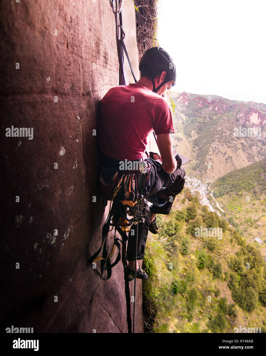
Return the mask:
M137 261L137 245L138 245L138 223L144 223L147 215L147 198L150 192L150 172L152 167L152 162L150 159L145 159L142 161L141 169L139 171L118 171L114 173L115 168L110 168L111 179L110 183L110 172L107 168L102 168L100 174L100 182L102 187L102 194L108 200L110 198L110 192L112 192L112 198L110 202L110 208L106 221L102 227L102 244L99 250L89 258L90 263L96 263L100 261L101 276L102 279L107 280L112 275L112 268L121 259L120 243L122 244L122 263L124 266L124 279L125 279L125 293L127 300L127 322L128 322L128 332L131 333L131 307L130 307L130 293L129 293L129 282L126 280L126 274L128 273L128 266L126 260L126 243L128 236L126 232L129 232L129 226L132 224L136 225L136 236L135 236L135 266ZM116 182L115 184L113 182ZM107 183L110 183L109 185ZM109 188L111 186L111 189ZM106 187L107 190L104 190ZM108 195L108 196L107 196ZM109 199L110 200L110 199ZM105 204L106 205L106 204ZM128 216L131 218L128 218ZM112 222L111 222L112 221ZM110 230L111 227L111 230ZM111 253L107 253L107 235L115 227L114 243ZM122 237L119 239L116 236L116 232ZM99 256L102 250L102 256ZM118 254L116 260L111 263L111 257L115 252L115 247L118 249ZM103 277L103 273L106 270L107 277ZM133 333L135 328L135 296L136 296L136 274L134 276L134 304L133 304Z

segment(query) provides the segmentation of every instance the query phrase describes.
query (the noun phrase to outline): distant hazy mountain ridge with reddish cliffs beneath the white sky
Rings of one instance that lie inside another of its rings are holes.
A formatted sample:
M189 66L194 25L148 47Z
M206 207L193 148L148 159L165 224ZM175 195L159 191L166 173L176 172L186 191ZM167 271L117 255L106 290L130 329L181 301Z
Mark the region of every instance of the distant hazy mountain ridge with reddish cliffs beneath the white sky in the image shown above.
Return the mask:
M213 182L266 157L266 104L185 91L171 100L173 146L191 158L188 175Z

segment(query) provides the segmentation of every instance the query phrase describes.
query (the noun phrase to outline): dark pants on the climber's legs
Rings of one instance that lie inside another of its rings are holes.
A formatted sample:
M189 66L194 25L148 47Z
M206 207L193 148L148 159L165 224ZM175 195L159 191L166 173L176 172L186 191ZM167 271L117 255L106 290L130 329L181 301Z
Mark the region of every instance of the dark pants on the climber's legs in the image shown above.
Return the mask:
M146 246L146 241L148 237L148 231L149 231L149 224L150 224L150 219L151 219L151 213L154 214L164 214L167 215L170 213L173 201L175 200L176 195L173 195L172 201L167 201L165 199L161 199L160 197L156 196L156 193L159 192L159 190L162 187L167 188L178 175L181 175L182 178L185 177L185 169L181 166L179 169L177 168L174 173L172 174L167 174L161 166L154 167L151 171L151 176L150 176L150 193L148 200L150 197L153 197L154 200L158 200L158 203L160 203L160 206L153 204L150 206L150 209L147 208L147 216L145 219L144 223L139 223L138 224L138 249L137 249L137 260L143 260L144 258L144 251L145 251L145 246ZM158 199L157 199L158 198ZM150 199L152 200L152 199ZM162 205L163 204L163 205ZM128 233L128 244L127 244L127 260L128 261L134 261L135 260L135 244L136 244L136 225L131 226L131 230L134 230L134 235L131 235L131 231Z

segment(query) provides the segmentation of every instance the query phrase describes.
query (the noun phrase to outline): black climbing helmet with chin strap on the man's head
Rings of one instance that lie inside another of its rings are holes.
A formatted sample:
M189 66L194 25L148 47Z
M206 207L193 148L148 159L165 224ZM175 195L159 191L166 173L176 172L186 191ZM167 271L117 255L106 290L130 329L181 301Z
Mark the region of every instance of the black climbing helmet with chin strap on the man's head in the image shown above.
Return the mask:
M147 49L143 54L142 58L139 62L139 70L142 70L142 65L147 64L150 69L161 69L162 72L165 70L166 75L163 83L159 85L155 89L154 78L153 81L153 91L157 93L158 89L160 89L165 83L170 80L173 82L172 87L174 87L176 83L176 67L172 60L172 57L165 51L165 49L161 47L152 47Z

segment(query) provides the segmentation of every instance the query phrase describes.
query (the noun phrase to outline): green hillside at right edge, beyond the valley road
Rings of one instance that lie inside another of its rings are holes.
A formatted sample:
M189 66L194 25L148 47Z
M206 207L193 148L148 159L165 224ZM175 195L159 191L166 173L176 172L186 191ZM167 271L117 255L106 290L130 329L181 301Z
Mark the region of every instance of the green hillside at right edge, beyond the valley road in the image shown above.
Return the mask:
M211 185L230 224L266 258L266 160L230 172Z

